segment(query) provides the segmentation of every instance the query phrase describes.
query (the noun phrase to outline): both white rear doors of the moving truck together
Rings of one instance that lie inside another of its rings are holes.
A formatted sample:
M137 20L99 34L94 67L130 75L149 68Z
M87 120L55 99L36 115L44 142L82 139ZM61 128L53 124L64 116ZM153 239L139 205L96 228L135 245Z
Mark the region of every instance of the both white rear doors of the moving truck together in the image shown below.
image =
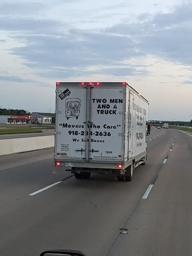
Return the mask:
M55 159L123 160L124 92L122 85L60 83L56 90Z

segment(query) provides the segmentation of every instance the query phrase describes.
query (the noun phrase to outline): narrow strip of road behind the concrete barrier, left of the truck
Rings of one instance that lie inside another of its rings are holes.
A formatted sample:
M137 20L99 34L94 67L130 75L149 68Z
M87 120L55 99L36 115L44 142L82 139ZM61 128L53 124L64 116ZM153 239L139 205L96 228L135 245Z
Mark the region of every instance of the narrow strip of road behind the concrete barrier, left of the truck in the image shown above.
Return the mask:
M54 135L54 132L55 130L51 129L51 130L42 130L42 133L3 134L3 135L0 135L0 140L48 136L48 135Z

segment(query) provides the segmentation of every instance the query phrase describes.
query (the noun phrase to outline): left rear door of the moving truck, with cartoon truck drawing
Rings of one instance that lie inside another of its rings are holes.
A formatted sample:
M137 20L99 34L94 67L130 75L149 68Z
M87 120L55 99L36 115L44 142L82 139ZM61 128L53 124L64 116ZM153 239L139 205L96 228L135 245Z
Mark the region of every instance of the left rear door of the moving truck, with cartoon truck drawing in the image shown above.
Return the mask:
M56 91L55 158L82 160L86 156L87 90L63 84Z

